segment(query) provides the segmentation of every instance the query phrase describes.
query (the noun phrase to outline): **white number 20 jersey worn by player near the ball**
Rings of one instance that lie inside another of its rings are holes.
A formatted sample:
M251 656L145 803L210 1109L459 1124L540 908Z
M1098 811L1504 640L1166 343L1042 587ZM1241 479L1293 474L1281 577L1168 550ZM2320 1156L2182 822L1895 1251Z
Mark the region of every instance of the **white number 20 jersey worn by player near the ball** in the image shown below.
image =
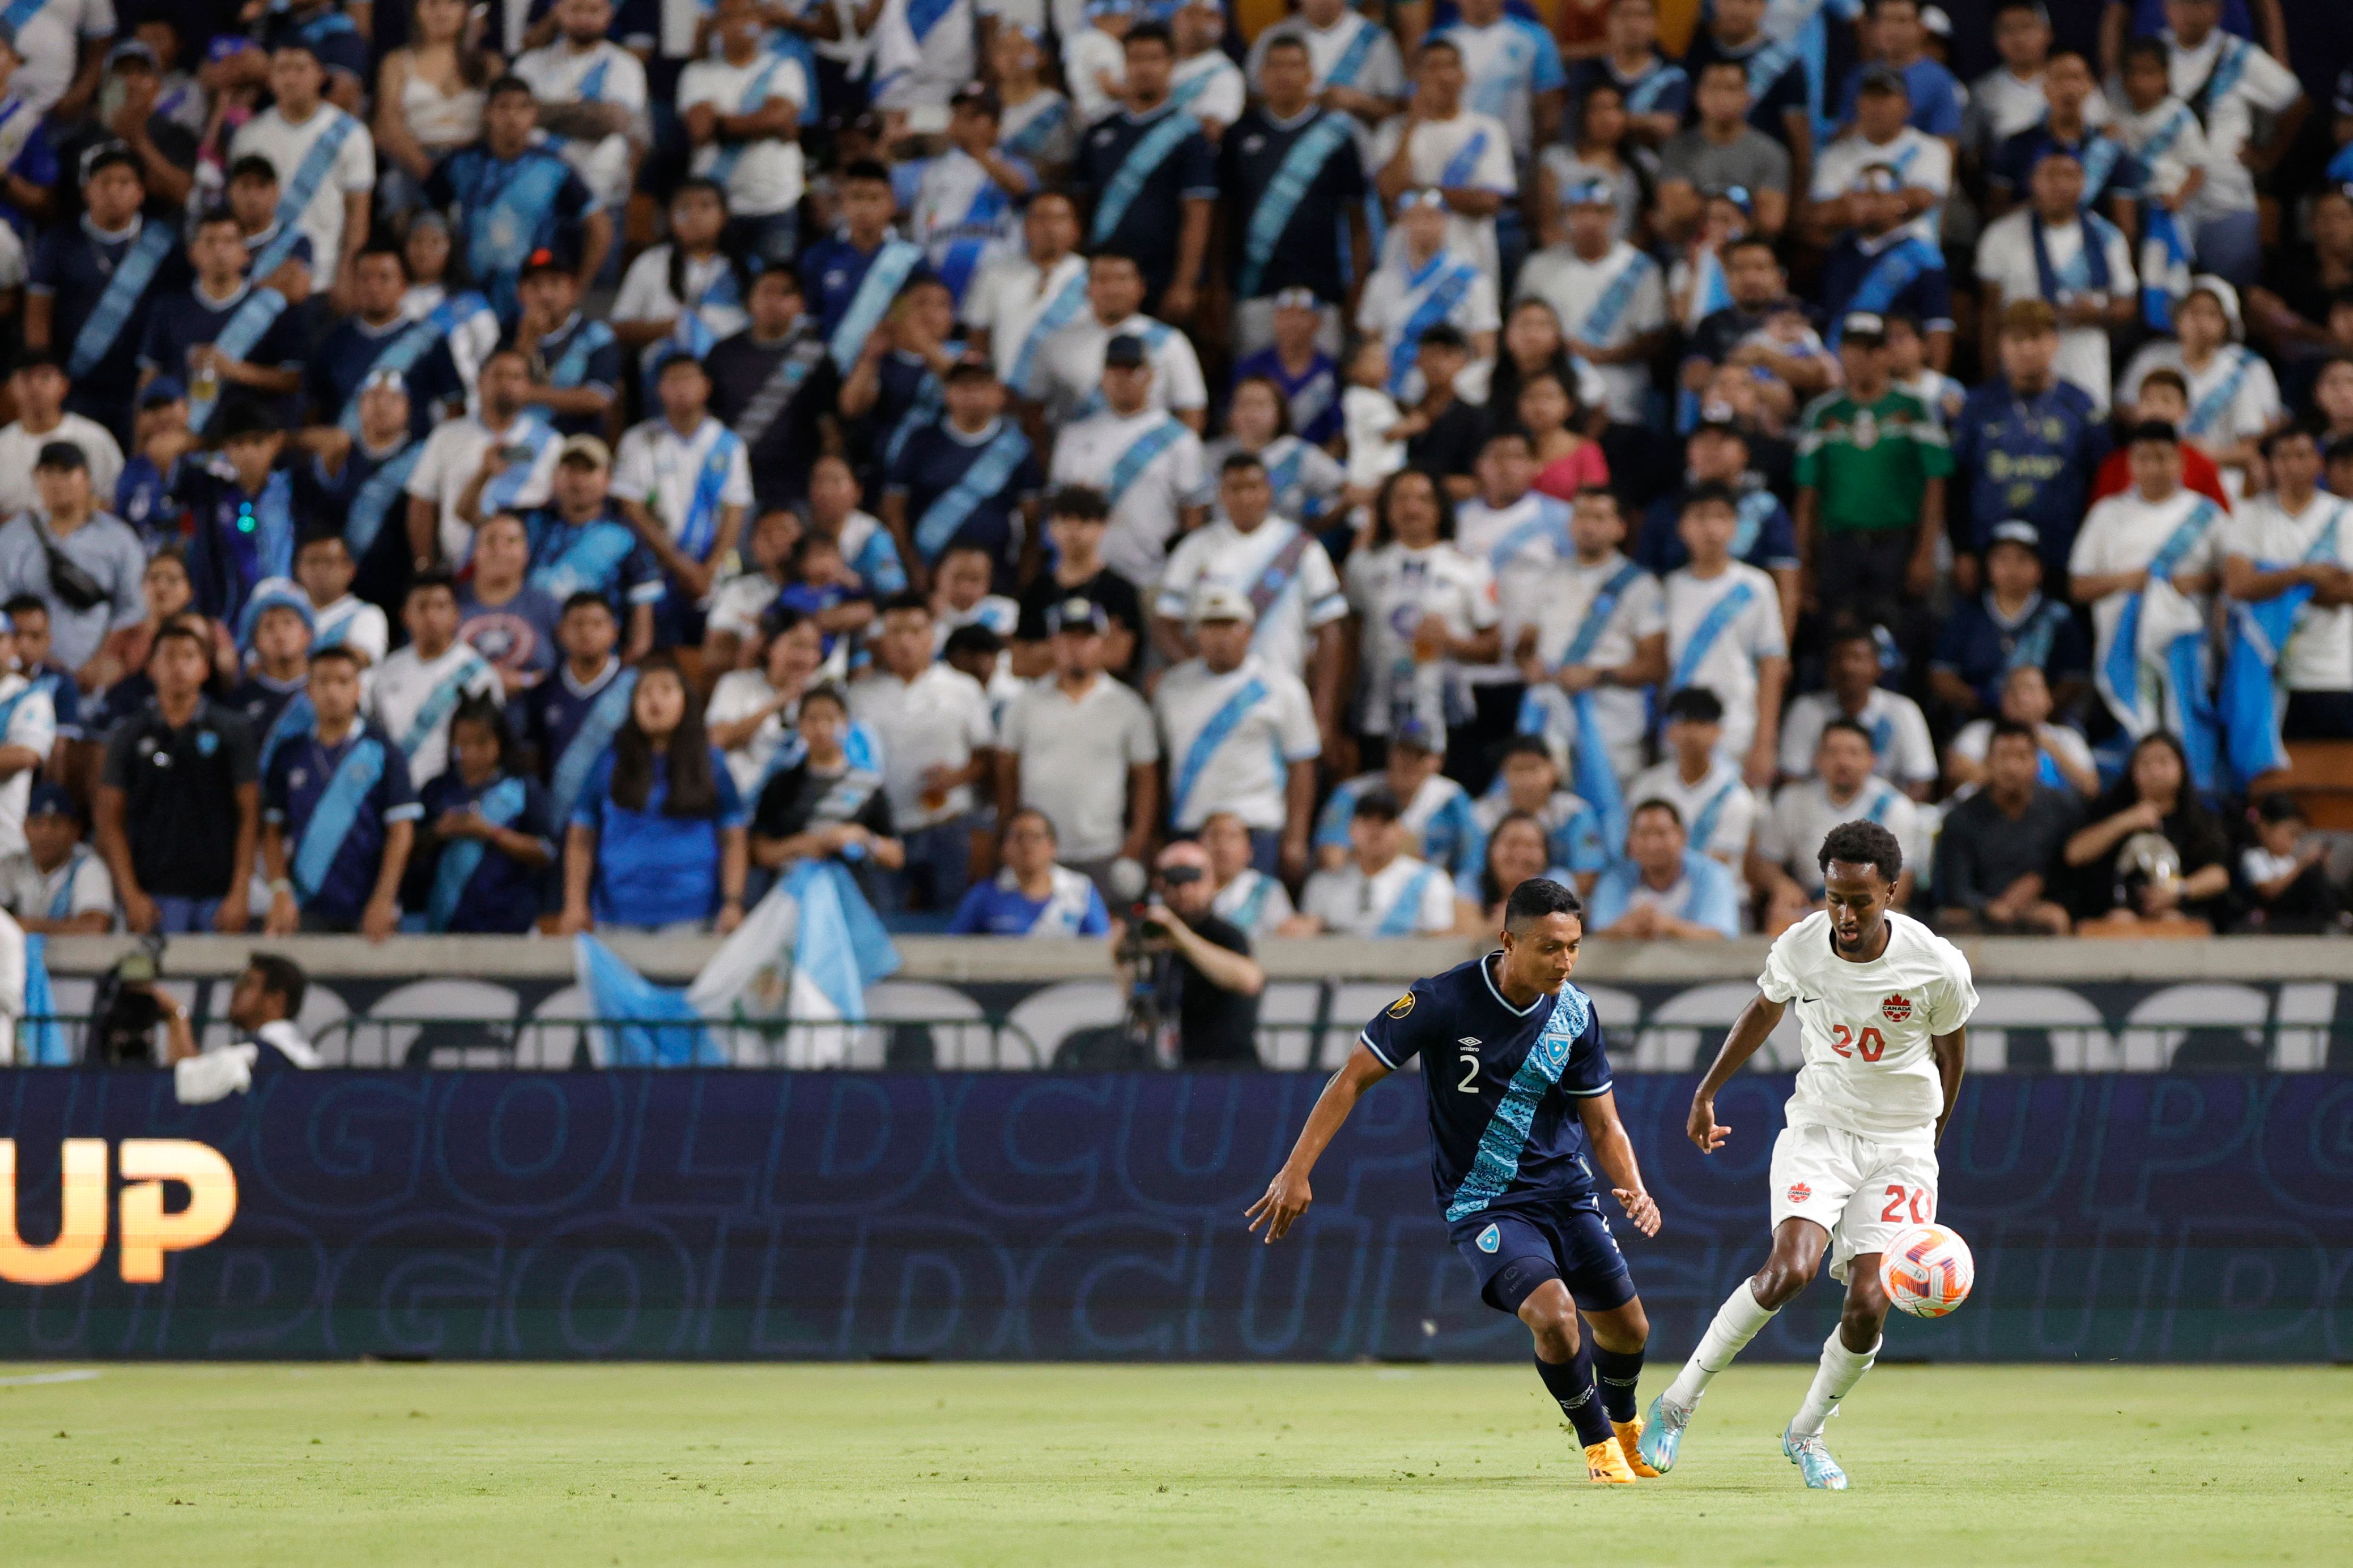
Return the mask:
M1908 914L1885 919L1885 952L1852 964L1831 945L1831 917L1807 914L1765 954L1758 990L1798 1009L1805 1067L1788 1098L1791 1126L1932 1143L1944 1079L1929 1039L1969 1023L1977 985L1960 947Z

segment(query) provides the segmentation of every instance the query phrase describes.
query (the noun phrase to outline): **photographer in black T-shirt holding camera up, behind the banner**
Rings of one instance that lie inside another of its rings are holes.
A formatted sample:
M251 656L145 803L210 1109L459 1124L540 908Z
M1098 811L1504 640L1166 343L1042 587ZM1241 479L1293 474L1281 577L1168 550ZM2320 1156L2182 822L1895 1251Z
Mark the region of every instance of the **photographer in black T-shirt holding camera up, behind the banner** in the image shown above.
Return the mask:
M1217 886L1209 853L1169 844L1153 865L1153 889L1113 931L1113 959L1129 976L1132 1037L1174 1067L1257 1067L1259 992L1266 971L1249 938L1209 912Z

